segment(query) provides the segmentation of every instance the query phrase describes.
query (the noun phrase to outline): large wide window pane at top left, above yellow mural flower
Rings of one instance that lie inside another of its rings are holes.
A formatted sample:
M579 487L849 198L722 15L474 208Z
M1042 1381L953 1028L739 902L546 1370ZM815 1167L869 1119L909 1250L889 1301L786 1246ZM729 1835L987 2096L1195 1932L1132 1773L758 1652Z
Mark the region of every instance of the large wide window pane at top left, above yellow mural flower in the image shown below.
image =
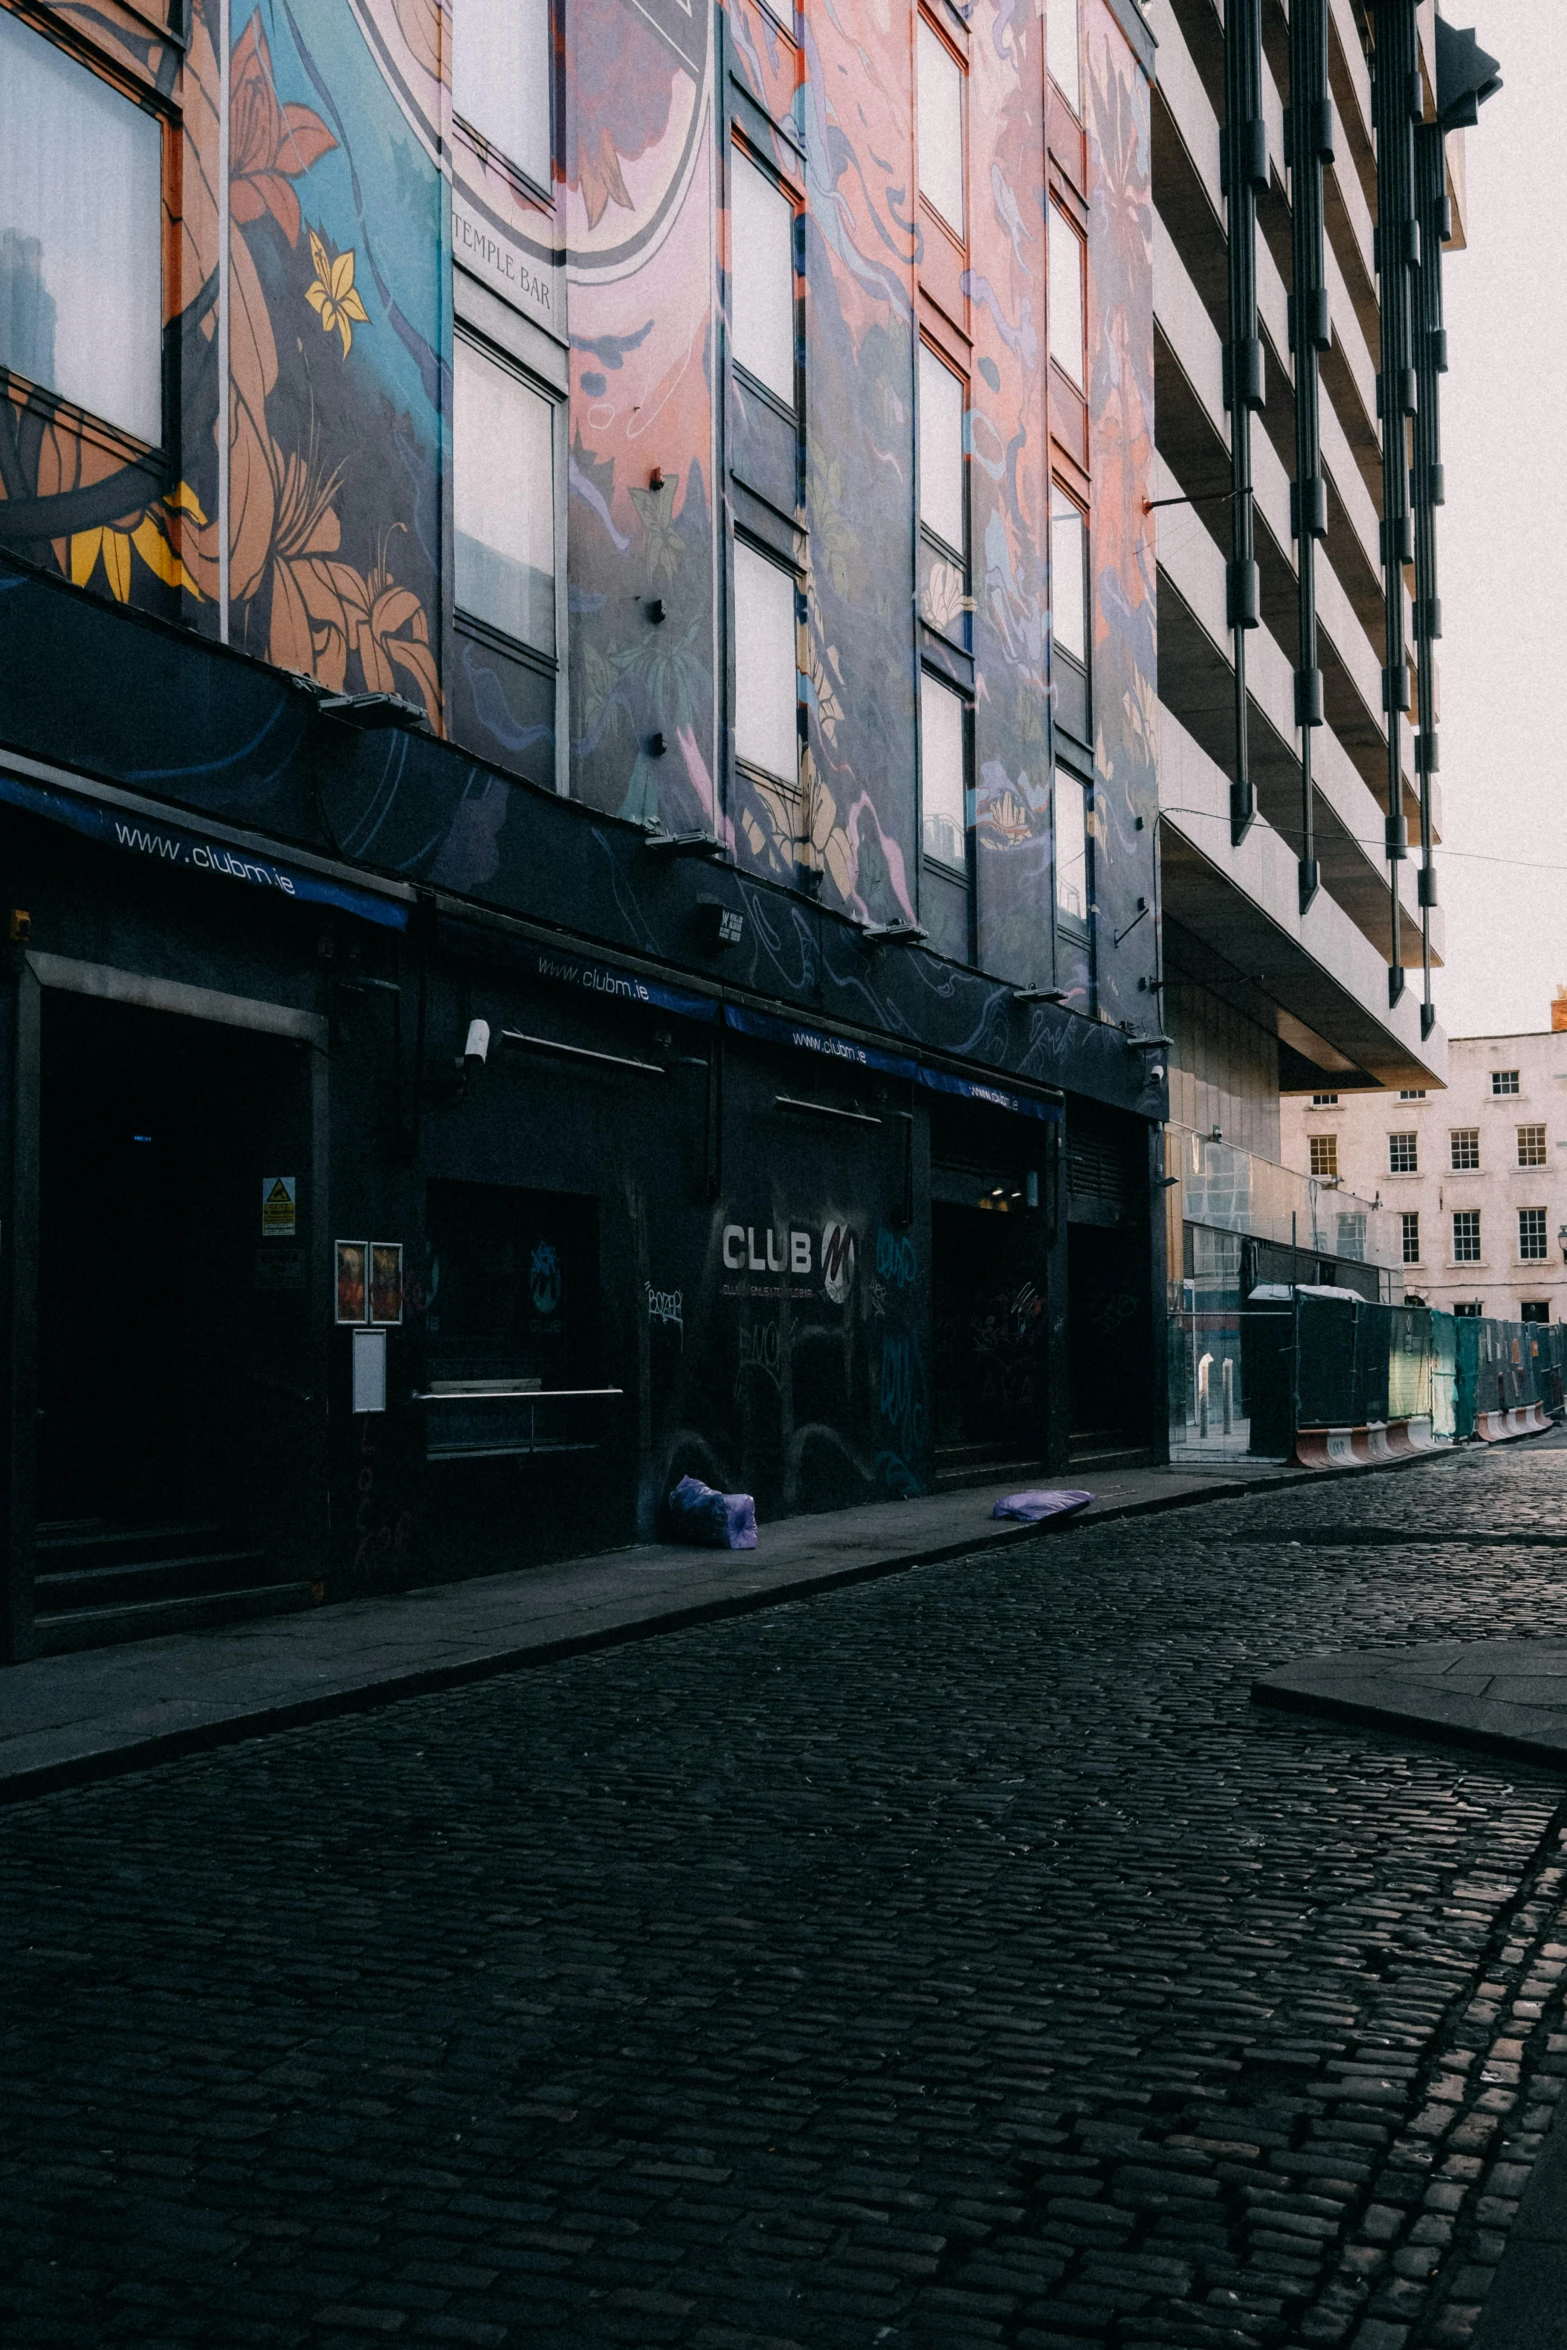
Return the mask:
M162 134L0 12L0 367L162 442Z

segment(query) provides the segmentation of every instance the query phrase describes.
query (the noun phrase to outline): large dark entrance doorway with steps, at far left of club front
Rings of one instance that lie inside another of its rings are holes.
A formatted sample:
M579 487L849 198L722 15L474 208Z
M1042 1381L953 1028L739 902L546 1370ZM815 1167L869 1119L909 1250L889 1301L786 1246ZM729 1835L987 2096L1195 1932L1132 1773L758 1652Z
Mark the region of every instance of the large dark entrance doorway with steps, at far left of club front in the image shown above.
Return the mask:
M301 1046L45 989L40 1617L301 1574L308 1142Z

